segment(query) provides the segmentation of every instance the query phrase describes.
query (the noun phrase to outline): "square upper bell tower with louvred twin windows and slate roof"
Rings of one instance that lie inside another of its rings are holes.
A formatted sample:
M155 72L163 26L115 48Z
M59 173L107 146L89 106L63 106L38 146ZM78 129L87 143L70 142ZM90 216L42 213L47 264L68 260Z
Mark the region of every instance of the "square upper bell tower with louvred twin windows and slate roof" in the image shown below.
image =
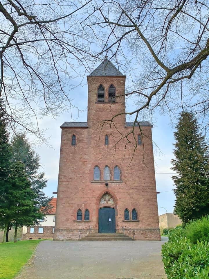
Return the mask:
M89 75L88 81L88 126L103 120L125 125L125 75L107 58Z

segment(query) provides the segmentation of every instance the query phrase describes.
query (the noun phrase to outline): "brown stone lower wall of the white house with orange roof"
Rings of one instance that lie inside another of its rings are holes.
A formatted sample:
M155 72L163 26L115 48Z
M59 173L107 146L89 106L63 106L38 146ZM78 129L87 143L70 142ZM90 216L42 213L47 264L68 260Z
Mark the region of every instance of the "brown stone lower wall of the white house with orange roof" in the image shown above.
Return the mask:
M34 226L34 233L30 233L30 227L27 228L27 233L23 233L21 240L28 239L49 239L53 238L53 226L43 226L44 232L39 233L38 228L41 226Z

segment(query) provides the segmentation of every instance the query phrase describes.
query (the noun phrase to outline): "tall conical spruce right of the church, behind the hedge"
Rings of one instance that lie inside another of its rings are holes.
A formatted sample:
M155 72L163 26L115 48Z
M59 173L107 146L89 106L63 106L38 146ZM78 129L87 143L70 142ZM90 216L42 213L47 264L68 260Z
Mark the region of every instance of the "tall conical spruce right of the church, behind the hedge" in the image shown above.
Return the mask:
M174 212L183 223L209 214L209 154L197 119L182 112L174 133L172 176L176 189Z

